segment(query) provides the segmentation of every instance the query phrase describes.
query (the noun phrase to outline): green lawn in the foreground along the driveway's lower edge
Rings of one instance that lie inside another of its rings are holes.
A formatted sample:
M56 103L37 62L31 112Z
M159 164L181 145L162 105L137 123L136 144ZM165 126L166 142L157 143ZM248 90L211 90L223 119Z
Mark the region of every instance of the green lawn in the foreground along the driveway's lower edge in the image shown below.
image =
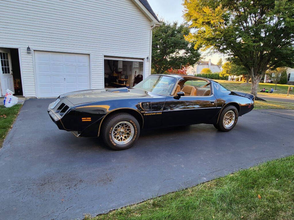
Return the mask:
M85 218L89 219L292 220L294 156L266 162L95 218Z

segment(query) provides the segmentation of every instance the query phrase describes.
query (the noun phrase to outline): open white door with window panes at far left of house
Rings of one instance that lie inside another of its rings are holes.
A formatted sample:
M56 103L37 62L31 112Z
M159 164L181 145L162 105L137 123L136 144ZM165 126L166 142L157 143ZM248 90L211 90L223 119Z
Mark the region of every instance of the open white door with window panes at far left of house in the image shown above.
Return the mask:
M7 89L14 92L9 49L0 48L0 71L1 95L5 96Z

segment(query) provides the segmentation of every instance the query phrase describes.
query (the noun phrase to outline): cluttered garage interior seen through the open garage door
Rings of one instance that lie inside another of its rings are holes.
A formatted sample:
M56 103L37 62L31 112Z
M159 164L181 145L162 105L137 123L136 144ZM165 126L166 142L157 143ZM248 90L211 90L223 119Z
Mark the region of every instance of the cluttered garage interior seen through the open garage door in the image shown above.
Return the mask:
M140 59L104 59L105 88L133 87L143 80L144 62Z

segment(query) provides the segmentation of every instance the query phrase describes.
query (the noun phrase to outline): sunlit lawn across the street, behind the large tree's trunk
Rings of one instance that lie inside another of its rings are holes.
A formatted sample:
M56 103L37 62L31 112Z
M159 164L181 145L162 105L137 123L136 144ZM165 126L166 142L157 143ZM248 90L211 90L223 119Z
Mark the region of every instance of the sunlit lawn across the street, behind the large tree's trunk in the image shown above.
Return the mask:
M224 81L224 80L216 80L216 81L219 82L224 87L226 87L228 90L239 90L239 91L245 91L245 92L250 92L250 90L251 90L251 83L249 85L247 85L247 84L244 84L244 82L228 82L228 81ZM277 84L277 92L273 92L273 94L277 94L277 93L278 94L287 94L288 86L289 85ZM275 84L273 84L273 83L259 83L258 92L260 90L262 90L263 88L270 90L270 87L273 87L273 89L275 89ZM292 86L292 87L294 87L294 86ZM289 94L294 95L294 90L290 91Z

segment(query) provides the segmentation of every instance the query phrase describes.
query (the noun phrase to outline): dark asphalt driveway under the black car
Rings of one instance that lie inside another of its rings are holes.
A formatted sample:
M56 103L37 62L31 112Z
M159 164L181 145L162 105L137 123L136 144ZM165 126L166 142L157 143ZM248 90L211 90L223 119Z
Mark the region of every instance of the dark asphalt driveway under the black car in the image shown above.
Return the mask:
M145 131L131 149L112 151L58 130L50 102L26 100L0 149L1 220L82 219L294 154L293 111L252 111L228 133Z

